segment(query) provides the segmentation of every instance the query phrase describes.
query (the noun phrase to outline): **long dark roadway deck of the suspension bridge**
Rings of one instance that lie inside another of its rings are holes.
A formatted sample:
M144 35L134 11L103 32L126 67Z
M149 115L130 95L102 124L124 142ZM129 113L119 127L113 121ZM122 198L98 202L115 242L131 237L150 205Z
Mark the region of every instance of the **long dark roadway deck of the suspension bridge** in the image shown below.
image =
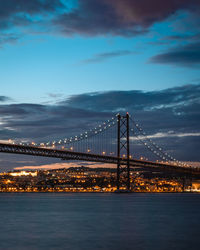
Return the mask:
M36 147L36 146L22 146L22 145L17 145L17 144L0 143L0 152L60 158L62 160L91 161L91 162L102 162L102 163L112 163L112 164L117 164L118 161L120 161L121 165L127 164L127 159L118 158L115 156L79 153L79 152L73 152L73 151L67 151L67 150L43 148L43 147ZM196 177L200 177L200 169L194 169L191 167L174 166L170 164L164 164L164 163L158 163L158 162L152 162L152 161L144 161L144 160L136 160L136 159L130 159L129 162L130 162L130 166L141 167L143 169L147 168L151 171L167 171L171 173L180 173L180 174L186 174L186 175L188 174L188 175L195 175Z

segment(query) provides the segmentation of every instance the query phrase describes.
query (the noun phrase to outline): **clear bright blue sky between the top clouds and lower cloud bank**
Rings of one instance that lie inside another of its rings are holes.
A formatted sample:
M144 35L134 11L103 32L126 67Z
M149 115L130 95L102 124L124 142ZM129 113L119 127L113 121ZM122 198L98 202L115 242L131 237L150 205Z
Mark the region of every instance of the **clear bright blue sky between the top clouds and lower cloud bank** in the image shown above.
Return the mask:
M25 5L25 1L21 4ZM1 5L3 8L3 1ZM60 12L55 12L52 18L59 18ZM49 93L67 96L108 90L148 91L194 83L199 79L199 67L150 61L157 54L190 43L178 36L192 39L198 34L197 29L179 27L182 22L187 26L188 18L191 19L188 12L187 8L177 10L160 22L152 22L147 31L126 36L123 32L122 35L110 34L110 30L99 34L81 33L75 27L72 34L65 34L46 24L48 18L38 11L30 15L29 24L3 30L3 34L12 34L16 39L1 45L1 94L15 102L41 103L52 101ZM37 16L40 22L36 25ZM170 40L172 36L177 39ZM107 57L101 57L106 54Z

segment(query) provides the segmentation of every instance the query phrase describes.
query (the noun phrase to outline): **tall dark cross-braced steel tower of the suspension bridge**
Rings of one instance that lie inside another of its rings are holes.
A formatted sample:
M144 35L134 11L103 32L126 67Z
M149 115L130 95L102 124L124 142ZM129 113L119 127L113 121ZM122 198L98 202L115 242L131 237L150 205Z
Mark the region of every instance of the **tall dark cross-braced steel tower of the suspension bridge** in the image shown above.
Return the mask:
M120 190L123 179L125 178L127 191L130 190L130 146L129 146L129 114L117 116L117 190ZM121 165L120 158L126 158L126 166ZM124 175L125 173L125 175Z

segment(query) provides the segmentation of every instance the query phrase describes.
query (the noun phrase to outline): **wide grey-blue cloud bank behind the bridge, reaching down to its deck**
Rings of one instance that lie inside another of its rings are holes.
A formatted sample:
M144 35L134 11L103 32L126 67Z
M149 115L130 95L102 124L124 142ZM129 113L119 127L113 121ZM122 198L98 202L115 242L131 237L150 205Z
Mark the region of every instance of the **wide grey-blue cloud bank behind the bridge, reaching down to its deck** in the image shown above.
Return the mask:
M108 91L70 96L57 104L0 105L0 139L47 142L77 135L96 127L114 114L128 111L150 139L180 160L198 161L200 147L200 84L160 91ZM132 126L132 124L131 124ZM115 133L116 134L116 133ZM115 141L111 141L115 147ZM107 143L107 146L109 144ZM147 154L139 141L134 156ZM6 159L7 156L2 156ZM9 156L3 167L23 167L23 158ZM19 156L18 156L19 157ZM27 156L28 157L28 156ZM151 155L149 154L149 159ZM13 160L12 160L13 159ZM28 158L29 159L29 158ZM31 158L32 159L32 158ZM29 159L30 160L30 159ZM33 165L57 163L56 159L33 158Z

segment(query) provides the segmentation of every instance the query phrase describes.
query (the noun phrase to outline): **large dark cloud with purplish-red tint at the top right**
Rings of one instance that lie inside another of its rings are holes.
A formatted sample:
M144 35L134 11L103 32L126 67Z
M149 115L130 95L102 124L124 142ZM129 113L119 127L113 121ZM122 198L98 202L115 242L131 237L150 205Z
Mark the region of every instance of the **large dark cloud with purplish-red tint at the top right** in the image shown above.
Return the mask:
M79 0L78 7L60 15L55 24L66 35L133 36L178 10L193 12L199 6L199 0Z

